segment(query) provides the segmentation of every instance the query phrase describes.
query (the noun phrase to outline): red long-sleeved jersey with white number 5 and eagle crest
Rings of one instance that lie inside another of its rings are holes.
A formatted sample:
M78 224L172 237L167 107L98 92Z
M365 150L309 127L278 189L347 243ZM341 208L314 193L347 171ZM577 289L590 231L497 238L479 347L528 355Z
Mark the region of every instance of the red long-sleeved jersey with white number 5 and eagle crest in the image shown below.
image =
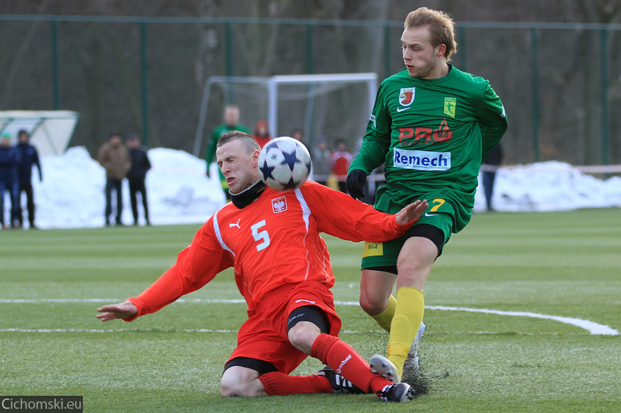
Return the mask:
M395 216L313 181L288 192L266 188L242 209L228 203L213 214L179 253L177 263L129 301L138 308L136 316L155 312L233 267L248 314L253 314L257 303L282 285L334 285L319 232L349 241L384 242L410 226L397 225Z

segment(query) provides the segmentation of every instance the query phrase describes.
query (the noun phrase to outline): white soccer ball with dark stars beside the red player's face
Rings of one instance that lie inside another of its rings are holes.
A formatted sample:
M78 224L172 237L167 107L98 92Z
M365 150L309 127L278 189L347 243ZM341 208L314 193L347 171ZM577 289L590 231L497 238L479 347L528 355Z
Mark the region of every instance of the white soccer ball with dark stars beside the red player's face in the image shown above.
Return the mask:
M295 190L311 174L311 154L297 139L275 138L259 152L259 170L268 187L277 191Z

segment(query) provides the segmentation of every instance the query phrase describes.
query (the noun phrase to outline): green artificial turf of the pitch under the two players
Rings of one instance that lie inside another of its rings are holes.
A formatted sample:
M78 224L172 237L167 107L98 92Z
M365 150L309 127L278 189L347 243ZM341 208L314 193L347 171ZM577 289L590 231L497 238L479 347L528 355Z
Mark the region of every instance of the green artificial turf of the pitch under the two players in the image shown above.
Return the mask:
M132 323L96 308L139 294L199 225L0 231L0 394L79 395L85 412L619 412L621 210L475 214L425 287L426 394L224 399L219 378L246 318L232 272ZM362 244L326 236L341 338L368 359L388 335L357 305ZM213 302L211 300L225 300ZM230 301L228 301L230 300ZM451 308L451 309L447 309ZM307 359L295 374L312 374Z

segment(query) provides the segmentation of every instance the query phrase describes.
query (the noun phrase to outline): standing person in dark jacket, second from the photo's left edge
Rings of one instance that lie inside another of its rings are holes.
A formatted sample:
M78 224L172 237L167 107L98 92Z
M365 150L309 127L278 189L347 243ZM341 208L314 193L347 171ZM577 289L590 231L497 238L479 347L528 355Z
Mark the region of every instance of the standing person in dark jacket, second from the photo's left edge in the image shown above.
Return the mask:
M28 208L28 222L30 229L37 229L34 225L34 194L32 191L32 165L36 165L39 170L39 181L43 181L41 163L39 162L39 152L37 148L30 145L28 140L30 134L26 130L17 132L18 143L15 149L19 152L19 163L17 163L17 174L19 175L19 189L17 191L17 219L19 226L23 226L23 212L21 211L21 192L26 192L26 208Z

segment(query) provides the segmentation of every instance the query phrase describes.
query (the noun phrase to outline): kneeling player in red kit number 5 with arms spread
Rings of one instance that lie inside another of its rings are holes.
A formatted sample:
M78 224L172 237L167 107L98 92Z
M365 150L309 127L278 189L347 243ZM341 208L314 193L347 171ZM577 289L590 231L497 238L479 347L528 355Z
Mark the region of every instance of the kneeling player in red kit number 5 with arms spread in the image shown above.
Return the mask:
M384 401L412 399L410 385L373 374L338 338L341 320L330 290L335 279L319 233L351 241L393 239L420 218L426 201L391 215L313 181L277 192L260 179L259 145L244 132L225 133L216 154L232 202L208 219L155 283L124 303L98 308L97 318L132 321L232 267L248 320L224 367L223 396L373 392ZM327 366L310 376L289 376L308 355Z

